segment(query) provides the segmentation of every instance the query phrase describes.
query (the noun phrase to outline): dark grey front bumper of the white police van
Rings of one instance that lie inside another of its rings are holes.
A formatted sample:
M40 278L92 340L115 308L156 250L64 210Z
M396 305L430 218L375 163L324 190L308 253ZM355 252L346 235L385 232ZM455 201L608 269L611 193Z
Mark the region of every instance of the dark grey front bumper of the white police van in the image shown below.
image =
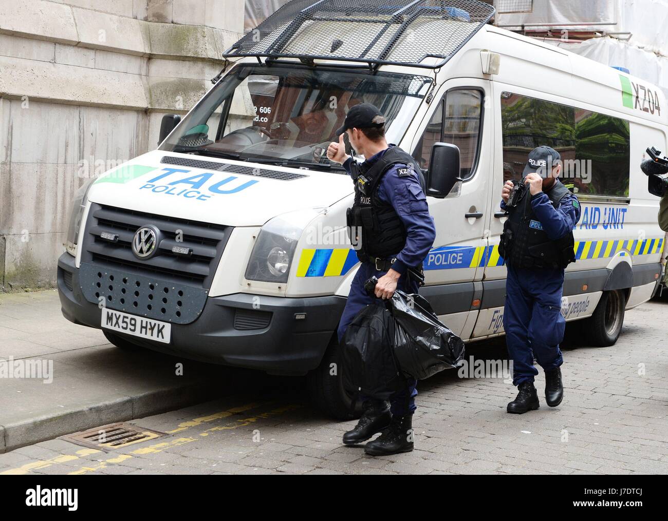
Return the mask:
M79 270L69 253L58 259L57 281L63 316L75 324L102 329L102 311L83 296ZM172 324L169 344L126 338L191 360L271 374L306 374L320 364L345 302L337 296L283 298L240 293L209 297L194 322Z

